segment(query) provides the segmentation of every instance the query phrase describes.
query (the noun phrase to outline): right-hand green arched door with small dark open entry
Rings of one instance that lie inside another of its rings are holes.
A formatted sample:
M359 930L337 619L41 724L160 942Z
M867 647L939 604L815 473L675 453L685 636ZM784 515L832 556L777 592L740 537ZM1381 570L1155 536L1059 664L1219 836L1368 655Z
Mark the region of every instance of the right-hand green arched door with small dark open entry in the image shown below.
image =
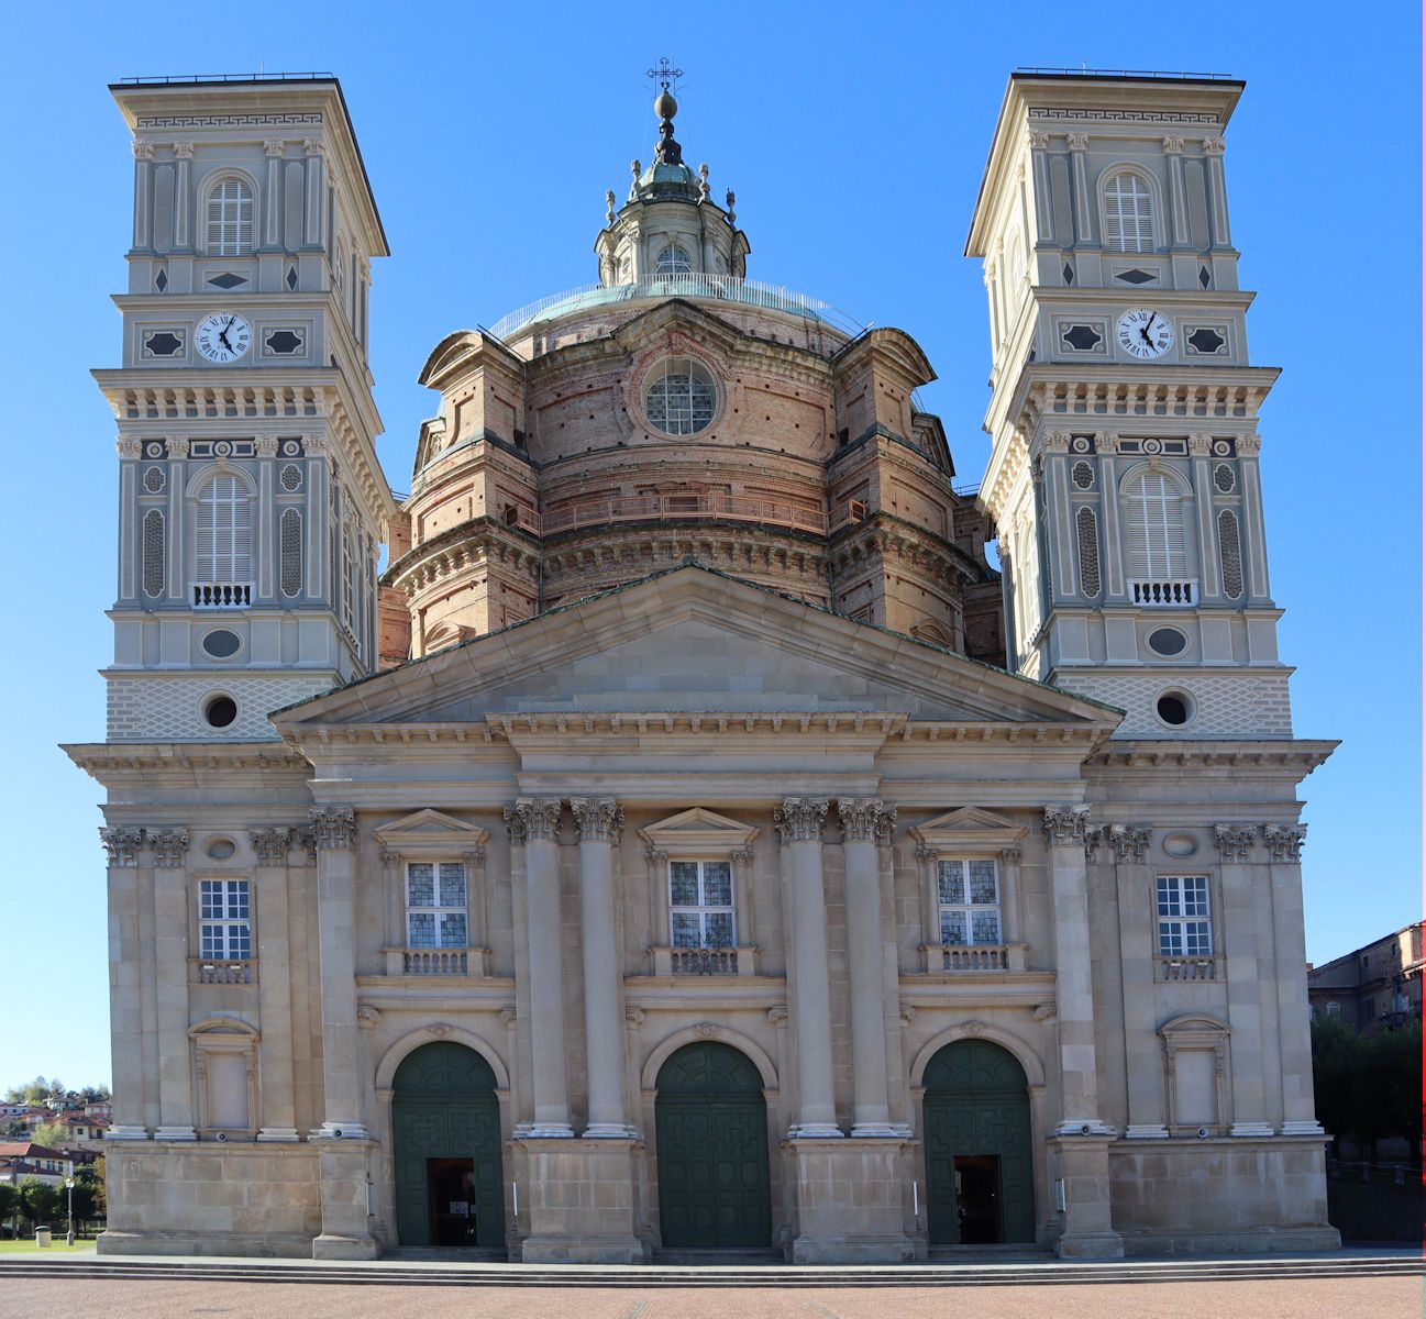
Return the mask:
M998 1044L957 1040L931 1058L923 1084L930 1243L1034 1241L1025 1069Z

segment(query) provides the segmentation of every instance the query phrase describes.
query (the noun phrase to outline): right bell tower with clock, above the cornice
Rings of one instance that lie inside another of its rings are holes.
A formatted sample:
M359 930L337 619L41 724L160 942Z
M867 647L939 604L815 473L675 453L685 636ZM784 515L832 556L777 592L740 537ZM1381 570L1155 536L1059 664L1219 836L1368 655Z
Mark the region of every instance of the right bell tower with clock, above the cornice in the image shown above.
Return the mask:
M1010 664L1119 737L1291 737L1224 174L1243 84L1017 73L967 242L984 262Z

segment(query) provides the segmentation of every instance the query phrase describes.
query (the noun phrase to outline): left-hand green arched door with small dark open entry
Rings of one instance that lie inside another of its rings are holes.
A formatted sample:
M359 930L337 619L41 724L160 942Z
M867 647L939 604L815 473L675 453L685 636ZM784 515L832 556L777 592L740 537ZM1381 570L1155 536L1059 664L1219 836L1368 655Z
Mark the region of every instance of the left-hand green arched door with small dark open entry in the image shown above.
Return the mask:
M505 1249L495 1072L463 1044L426 1044L392 1081L396 1239Z

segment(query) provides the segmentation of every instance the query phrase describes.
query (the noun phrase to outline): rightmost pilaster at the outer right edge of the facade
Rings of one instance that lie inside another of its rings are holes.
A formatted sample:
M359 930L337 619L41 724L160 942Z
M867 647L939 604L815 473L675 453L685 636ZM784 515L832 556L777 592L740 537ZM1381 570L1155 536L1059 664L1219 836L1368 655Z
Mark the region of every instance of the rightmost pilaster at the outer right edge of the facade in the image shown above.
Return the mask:
M1308 950L1302 924L1302 841L1306 824L1265 824L1272 884L1278 978L1278 1040L1282 1051L1282 1134L1322 1135L1312 1095L1312 1031L1308 1017Z

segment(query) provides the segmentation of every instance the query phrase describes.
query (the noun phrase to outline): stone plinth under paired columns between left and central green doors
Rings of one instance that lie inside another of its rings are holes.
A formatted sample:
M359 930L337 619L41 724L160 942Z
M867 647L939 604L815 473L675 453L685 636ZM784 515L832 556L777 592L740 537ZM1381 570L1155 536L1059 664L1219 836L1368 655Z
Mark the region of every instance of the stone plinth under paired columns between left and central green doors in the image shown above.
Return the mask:
M635 1231L635 1139L526 1136L515 1149L523 1165L520 1216L525 1263L643 1263Z

